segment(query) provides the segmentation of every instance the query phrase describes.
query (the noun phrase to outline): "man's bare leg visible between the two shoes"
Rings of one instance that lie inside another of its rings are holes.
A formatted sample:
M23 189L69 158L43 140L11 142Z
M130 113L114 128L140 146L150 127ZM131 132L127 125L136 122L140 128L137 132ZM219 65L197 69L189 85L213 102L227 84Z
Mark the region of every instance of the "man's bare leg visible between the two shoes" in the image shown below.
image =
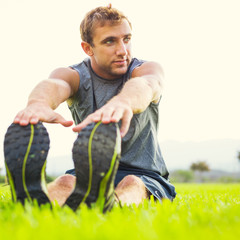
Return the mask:
M57 201L62 206L73 191L75 183L76 177L70 174L60 176L49 183L47 190L50 201Z

